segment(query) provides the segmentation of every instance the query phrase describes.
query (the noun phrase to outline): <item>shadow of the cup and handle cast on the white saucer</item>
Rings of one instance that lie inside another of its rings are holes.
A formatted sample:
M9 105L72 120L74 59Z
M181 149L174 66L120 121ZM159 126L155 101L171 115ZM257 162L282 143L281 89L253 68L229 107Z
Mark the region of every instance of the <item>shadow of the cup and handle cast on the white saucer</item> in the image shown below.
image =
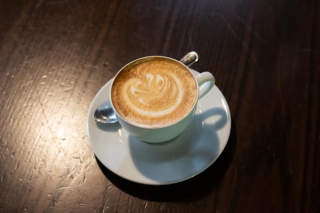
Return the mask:
M129 136L131 158L136 169L150 180L160 183L171 183L172 177L186 180L207 169L219 157L221 141L217 131L226 124L225 110L212 108L196 114L184 132L164 143L149 144Z

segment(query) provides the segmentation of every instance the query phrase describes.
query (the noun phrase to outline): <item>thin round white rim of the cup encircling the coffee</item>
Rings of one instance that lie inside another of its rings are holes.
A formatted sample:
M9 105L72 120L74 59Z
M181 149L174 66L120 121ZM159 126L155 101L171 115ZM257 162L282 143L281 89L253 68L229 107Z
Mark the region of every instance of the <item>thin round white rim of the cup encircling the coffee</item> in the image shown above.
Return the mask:
M149 59L150 60L146 60L146 59ZM127 69L131 69L133 66L135 65L138 65L140 63L144 63L144 62L147 62L147 61L151 61L151 60L154 60L156 58L165 58L165 59L169 59L169 60L173 60L175 62L178 62L179 64L185 66L188 70L189 70L189 73L191 73L195 83L196 83L196 88L197 88L197 93L196 93L196 99L192 105L192 107L190 108L190 110L182 117L180 117L180 119L170 123L170 124L166 124L166 125L163 125L163 126L158 126L158 127L148 127L148 126L142 126L142 125L138 125L138 124L134 124L130 121L128 121L127 119L125 119L123 116L120 115L120 113L116 110L115 106L113 106L113 103L112 103L112 86L113 86L113 83L115 82L115 79L116 77L122 72L122 70L124 70L125 68ZM195 77L195 75L192 73L191 69L186 66L184 63L174 59L174 58L170 58L170 57L167 57L167 56L160 56L160 55L151 55L151 56L144 56L144 57L141 57L141 58L137 58L133 61L130 61L129 63L127 63L126 65L124 65L121 69L118 70L117 74L115 75L115 77L113 77L112 79L112 82L111 82L111 85L110 85L110 90L109 90L109 100L110 100L110 103L111 103L111 106L112 106L112 109L113 111L115 111L115 113L117 114L117 116L119 116L121 118L121 120L125 121L127 124L129 125L132 125L134 127L138 127L138 128L141 128L141 129L162 129L162 128L166 128L166 127L170 127L170 126L173 126L177 123L179 123L180 121L184 120L185 117L189 116L190 113L192 113L192 111L194 111L194 108L197 106L197 103L198 103L198 99L199 99L199 85L198 85L198 82L197 82L197 79Z

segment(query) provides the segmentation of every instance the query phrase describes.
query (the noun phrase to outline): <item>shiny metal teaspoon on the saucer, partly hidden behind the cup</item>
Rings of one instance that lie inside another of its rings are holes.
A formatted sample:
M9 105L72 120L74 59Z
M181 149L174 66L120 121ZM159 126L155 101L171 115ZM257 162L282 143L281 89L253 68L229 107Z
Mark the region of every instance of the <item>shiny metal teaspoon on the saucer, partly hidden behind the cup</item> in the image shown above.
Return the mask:
M196 52L192 51L187 53L184 57L180 59L180 62L190 67L192 64L197 62L199 56ZM116 113L113 111L110 100L103 102L95 111L94 119L96 122L104 124L112 124L118 122Z

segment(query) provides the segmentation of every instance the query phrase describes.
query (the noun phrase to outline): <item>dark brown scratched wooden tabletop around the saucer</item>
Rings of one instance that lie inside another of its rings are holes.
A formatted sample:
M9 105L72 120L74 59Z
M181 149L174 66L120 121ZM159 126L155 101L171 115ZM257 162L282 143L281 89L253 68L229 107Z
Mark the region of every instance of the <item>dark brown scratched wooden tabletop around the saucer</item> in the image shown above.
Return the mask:
M0 1L0 212L320 212L320 2ZM209 70L232 130L203 173L133 183L86 134L99 89L127 62Z

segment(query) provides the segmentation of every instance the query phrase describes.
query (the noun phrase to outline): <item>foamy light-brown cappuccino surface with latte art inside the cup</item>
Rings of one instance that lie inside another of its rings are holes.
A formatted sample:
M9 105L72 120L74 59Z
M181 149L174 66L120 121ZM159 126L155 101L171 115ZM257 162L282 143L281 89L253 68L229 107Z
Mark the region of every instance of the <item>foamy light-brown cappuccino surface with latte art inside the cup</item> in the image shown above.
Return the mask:
M174 60L155 58L124 68L111 88L114 108L141 127L172 124L192 109L198 94L189 69Z

